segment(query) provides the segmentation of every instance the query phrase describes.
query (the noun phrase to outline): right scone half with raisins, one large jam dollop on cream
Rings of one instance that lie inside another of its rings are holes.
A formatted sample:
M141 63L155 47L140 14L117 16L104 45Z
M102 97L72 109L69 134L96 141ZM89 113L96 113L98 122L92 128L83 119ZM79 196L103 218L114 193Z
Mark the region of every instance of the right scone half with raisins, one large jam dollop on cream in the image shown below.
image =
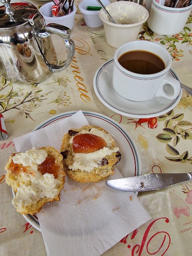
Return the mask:
M61 154L66 174L77 182L104 180L114 174L113 166L121 159L112 136L91 125L69 130L63 137Z

